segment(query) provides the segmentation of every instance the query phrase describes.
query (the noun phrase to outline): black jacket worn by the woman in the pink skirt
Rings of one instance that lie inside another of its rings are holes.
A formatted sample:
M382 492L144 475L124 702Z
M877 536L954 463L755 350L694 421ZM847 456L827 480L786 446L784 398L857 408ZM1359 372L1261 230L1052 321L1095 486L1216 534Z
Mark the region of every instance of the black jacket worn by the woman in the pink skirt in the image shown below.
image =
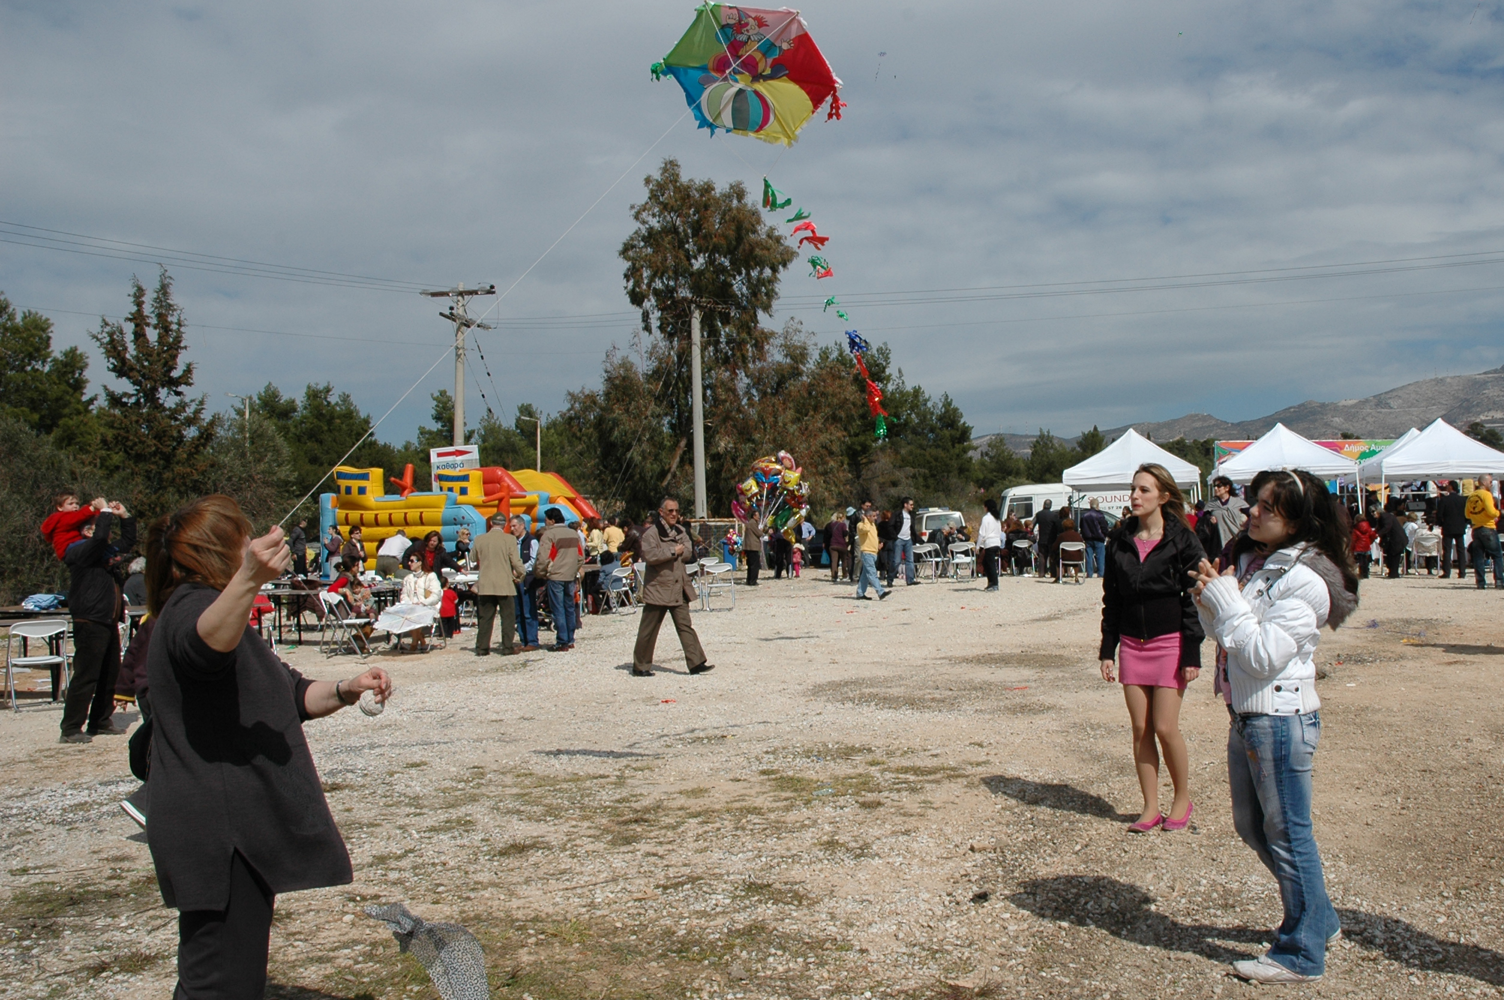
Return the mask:
M1154 639L1181 633L1181 665L1202 665L1202 621L1191 600L1190 571L1206 553L1202 543L1175 517L1164 522L1164 538L1139 561L1134 532L1139 519L1130 517L1107 535L1107 565L1102 574L1102 647L1099 659L1117 654L1122 636Z

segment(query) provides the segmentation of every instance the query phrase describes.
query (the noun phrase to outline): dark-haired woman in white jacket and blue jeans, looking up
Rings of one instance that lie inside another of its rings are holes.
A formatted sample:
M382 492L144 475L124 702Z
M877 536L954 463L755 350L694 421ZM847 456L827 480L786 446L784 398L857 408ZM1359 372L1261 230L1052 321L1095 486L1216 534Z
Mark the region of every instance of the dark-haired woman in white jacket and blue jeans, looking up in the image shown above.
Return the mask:
M1280 883L1284 920L1268 955L1233 962L1244 979L1310 982L1342 934L1311 832L1311 761L1321 699L1311 659L1321 627L1358 606L1349 532L1327 486L1310 472L1269 471L1248 489L1233 562L1206 561L1196 605L1217 641L1217 690L1227 702L1227 780L1238 836Z

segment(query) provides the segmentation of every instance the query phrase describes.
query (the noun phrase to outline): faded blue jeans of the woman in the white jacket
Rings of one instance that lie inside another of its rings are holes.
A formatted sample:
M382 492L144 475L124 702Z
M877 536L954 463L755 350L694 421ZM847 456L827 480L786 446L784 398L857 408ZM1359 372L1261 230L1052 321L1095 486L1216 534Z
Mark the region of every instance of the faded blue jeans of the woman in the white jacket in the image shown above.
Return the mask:
M1327 938L1342 926L1311 833L1311 759L1319 741L1319 711L1235 716L1227 731L1232 823L1280 883L1284 902L1269 958L1302 976L1325 971Z

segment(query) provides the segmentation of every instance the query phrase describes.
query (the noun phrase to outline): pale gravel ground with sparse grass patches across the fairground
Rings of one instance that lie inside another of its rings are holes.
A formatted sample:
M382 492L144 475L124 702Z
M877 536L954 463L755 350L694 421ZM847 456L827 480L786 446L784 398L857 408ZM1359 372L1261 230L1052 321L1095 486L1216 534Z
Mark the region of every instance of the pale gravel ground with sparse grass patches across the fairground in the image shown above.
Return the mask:
M1226 713L1184 711L1193 829L1131 838L1099 588L1005 579L856 602L764 580L696 612L717 668L627 674L635 615L567 654L378 660L378 719L307 726L355 883L278 901L268 995L435 997L368 902L481 940L493 995L1238 997L1280 919L1232 830ZM1370 580L1327 633L1316 833L1348 938L1310 995L1504 986L1496 591ZM1206 654L1209 657L1211 647ZM314 677L356 672L311 647ZM119 738L0 720L0 995L164 997L174 914L119 800Z

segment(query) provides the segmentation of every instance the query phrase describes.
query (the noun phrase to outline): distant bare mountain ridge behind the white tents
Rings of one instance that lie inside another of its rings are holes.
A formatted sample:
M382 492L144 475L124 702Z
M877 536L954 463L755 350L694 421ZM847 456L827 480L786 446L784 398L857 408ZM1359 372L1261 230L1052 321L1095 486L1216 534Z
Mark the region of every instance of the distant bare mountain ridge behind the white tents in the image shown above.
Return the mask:
M1478 374L1421 379L1361 400L1340 400L1337 403L1305 400L1257 420L1229 423L1211 414L1187 414L1176 420L1152 424L1104 429L1102 435L1111 441L1128 427L1134 427L1140 435L1148 435L1155 441L1176 438L1238 441L1257 438L1278 423L1313 441L1340 438L1345 432L1358 438L1382 439L1399 438L1411 427L1424 427L1438 417L1459 429L1465 429L1472 421L1504 427L1504 367ZM1089 423L1089 420L1078 423ZM972 444L981 450L996 436L973 438ZM1002 438L1009 448L1020 454L1027 454L1029 445L1033 444L1033 435L1002 435ZM1075 438L1062 438L1062 441L1074 442Z

